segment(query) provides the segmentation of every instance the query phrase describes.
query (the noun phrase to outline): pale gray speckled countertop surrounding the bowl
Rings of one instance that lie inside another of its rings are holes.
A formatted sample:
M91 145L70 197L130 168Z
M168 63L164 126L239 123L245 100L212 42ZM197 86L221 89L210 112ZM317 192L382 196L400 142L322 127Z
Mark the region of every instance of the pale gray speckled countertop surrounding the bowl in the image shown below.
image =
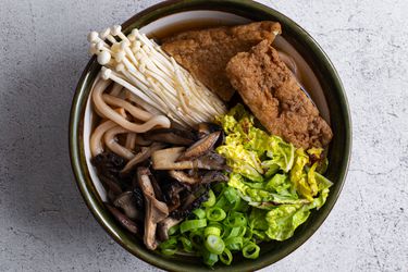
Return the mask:
M1 0L0 271L156 271L98 225L71 172L86 34L157 1ZM304 26L343 78L354 123L337 205L263 271L408 270L408 1L262 1Z

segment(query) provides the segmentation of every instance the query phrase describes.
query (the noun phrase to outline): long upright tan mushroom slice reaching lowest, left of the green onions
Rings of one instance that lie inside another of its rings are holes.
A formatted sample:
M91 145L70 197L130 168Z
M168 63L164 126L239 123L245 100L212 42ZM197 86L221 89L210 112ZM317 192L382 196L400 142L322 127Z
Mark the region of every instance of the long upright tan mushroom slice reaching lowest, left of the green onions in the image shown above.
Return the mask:
M157 224L169 215L169 209L164 202L156 199L150 175L149 169L137 169L137 178L145 196L146 207L144 243L148 249L154 250L158 246L158 242L156 240Z

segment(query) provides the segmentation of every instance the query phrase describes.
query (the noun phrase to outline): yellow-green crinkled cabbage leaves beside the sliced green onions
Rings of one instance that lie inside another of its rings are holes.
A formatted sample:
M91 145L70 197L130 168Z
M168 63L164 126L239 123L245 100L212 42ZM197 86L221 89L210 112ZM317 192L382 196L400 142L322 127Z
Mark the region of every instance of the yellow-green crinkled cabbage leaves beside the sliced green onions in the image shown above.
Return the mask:
M321 174L327 164L321 160L323 149L296 149L269 135L242 104L217 122L226 134L217 151L233 170L228 186L252 207L248 223L254 235L259 240L292 237L310 210L320 209L329 196L332 183Z

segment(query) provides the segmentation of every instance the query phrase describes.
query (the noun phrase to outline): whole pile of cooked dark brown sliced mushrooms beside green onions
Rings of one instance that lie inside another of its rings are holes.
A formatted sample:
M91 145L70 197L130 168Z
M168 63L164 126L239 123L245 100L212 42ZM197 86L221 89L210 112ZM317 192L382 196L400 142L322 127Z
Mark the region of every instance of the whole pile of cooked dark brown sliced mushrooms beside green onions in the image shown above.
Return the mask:
M137 135L132 159L110 149L97 154L92 163L108 209L154 250L172 226L208 199L211 183L227 181L226 161L214 151L223 140L220 126L202 123L195 132L159 128Z

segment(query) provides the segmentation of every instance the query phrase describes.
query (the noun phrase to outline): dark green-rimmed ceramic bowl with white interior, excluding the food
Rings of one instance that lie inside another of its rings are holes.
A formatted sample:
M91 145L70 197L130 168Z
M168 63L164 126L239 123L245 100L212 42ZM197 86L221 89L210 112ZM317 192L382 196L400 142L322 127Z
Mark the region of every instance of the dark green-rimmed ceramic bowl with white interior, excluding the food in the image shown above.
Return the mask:
M274 46L295 58L302 72L302 84L323 118L331 123L334 138L329 149L330 166L326 176L334 185L323 208L312 211L308 221L296 230L292 238L261 244L261 254L256 260L236 256L231 265L215 265L214 270L254 271L274 263L304 244L329 215L345 182L351 149L349 109L341 79L327 55L308 33L280 12L252 1L165 1L136 14L122 25L125 33L138 27L150 36L162 36L198 25L234 25L265 20L282 24L283 35ZM208 268L198 259L163 257L147 250L143 242L123 230L104 208L106 191L89 162L89 134L94 118L89 92L99 70L99 64L92 58L79 79L71 110L71 162L85 202L113 239L139 259L170 271L207 271Z

